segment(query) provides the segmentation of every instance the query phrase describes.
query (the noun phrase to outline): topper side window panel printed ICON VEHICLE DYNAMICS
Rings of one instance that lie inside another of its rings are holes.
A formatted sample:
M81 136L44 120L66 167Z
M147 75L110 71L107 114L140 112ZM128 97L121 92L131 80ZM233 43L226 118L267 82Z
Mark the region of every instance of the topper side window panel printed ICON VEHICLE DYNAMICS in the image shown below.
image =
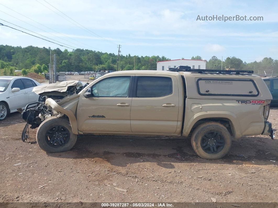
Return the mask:
M259 90L252 79L203 79L197 80L200 95L256 97Z

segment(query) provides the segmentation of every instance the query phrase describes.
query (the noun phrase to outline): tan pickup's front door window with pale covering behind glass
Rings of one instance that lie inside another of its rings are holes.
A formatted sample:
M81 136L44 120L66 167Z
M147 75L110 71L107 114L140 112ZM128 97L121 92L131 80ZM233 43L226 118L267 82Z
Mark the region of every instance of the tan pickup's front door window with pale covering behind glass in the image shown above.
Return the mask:
M128 97L130 77L111 77L91 87L94 97Z

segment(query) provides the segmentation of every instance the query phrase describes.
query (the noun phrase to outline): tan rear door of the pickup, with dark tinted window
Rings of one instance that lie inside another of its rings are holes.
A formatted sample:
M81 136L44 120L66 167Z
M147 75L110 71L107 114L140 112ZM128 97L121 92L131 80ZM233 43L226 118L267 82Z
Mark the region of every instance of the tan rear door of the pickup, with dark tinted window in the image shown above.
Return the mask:
M178 109L175 76L136 75L130 112L133 133L174 134Z

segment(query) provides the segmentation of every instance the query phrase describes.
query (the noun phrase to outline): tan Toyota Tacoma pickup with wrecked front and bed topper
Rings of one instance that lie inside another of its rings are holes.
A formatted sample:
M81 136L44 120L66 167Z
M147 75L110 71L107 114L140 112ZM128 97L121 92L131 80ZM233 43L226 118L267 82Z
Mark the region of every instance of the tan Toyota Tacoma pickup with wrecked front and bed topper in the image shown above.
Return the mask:
M267 121L272 96L261 77L247 72L112 72L63 99L44 96L22 116L27 127L39 127L37 142L46 152L70 150L78 134L191 136L198 156L219 159L232 137L274 137ZM53 85L53 94L67 92Z

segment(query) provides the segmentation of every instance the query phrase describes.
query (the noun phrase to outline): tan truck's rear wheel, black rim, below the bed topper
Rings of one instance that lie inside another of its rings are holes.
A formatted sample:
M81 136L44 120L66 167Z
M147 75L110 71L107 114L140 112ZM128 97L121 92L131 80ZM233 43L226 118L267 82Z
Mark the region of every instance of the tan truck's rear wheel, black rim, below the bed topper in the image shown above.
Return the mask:
M232 138L222 124L205 122L193 131L191 144L197 155L203 159L220 159L229 153Z

